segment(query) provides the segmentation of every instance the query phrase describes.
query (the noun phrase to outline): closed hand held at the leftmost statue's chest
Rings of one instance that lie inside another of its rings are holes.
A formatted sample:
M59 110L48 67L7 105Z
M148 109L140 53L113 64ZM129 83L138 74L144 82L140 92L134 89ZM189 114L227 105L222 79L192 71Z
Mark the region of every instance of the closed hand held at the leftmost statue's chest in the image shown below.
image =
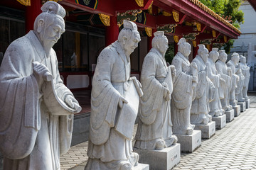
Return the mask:
M38 83L38 87L41 88L43 81L50 81L52 79L52 75L50 74L49 69L39 63L39 62L33 62L33 75L36 78L36 81Z

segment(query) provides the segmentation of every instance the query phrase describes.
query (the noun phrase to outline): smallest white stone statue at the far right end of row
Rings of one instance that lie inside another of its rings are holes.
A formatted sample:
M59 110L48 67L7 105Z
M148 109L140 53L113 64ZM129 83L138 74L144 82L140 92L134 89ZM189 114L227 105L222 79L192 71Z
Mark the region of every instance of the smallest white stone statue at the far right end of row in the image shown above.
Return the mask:
M246 64L246 58L242 55L240 55L240 68L242 69L242 74L245 77L245 81L242 87L242 98L245 98L247 100L249 97L247 96L249 81L250 81L250 67Z

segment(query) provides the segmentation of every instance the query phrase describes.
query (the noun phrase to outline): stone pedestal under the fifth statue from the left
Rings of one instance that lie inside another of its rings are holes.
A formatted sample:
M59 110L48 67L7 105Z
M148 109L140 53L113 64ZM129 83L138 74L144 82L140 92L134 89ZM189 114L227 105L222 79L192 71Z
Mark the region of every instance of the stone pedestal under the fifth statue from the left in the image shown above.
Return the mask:
M202 139L210 139L215 135L215 122L212 121L207 125L195 125L195 130L201 130Z

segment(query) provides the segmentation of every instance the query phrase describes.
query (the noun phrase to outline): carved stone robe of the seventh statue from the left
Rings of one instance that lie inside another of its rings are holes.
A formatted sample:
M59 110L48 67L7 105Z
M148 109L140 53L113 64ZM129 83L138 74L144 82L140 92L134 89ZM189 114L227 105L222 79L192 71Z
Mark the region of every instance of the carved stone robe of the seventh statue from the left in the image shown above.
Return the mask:
M227 107L230 106L230 90L232 88L232 81L231 81L231 77L228 75L228 67L225 64L225 62L222 62L220 60L218 60L215 63L216 69L218 71L218 73L220 74L220 77L223 78L225 80L225 84L220 84L220 89L223 91L223 95L224 98L220 99L221 102L221 106L223 108L224 111L227 110Z

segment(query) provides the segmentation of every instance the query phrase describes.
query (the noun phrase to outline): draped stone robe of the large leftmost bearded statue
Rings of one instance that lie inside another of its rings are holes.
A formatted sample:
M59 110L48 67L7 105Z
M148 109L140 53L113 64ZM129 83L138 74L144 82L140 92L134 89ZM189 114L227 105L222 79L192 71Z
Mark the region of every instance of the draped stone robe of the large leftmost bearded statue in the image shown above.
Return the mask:
M60 155L70 148L73 115L48 111L32 74L32 62L36 61L50 70L60 99L73 95L60 79L55 51L51 49L50 57L46 57L32 30L9 45L0 69L4 169L60 169Z

